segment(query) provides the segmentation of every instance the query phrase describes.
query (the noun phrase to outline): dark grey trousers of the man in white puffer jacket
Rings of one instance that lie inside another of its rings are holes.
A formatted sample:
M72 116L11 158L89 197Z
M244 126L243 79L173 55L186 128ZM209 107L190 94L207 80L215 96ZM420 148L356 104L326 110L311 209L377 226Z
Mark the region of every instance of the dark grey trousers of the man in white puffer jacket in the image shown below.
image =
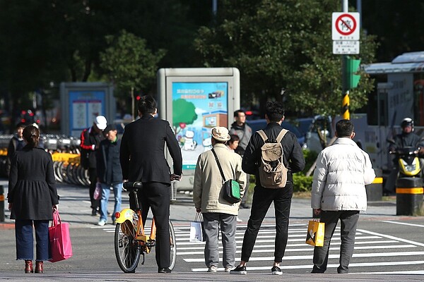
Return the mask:
M336 230L338 219L340 219L340 266L337 273L349 273L349 262L353 255L353 247L355 247L356 226L359 219L359 211L322 211L321 222L325 223L324 246L314 248L314 273L324 273L329 261L329 247L331 237Z

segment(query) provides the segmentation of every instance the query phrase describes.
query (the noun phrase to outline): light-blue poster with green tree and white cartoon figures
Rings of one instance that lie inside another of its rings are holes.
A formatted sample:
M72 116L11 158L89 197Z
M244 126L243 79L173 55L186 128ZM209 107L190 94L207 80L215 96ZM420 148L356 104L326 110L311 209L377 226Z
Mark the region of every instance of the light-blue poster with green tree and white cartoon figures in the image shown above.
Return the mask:
M172 129L183 171L194 170L199 154L212 148L214 126L228 126L228 82L172 82Z

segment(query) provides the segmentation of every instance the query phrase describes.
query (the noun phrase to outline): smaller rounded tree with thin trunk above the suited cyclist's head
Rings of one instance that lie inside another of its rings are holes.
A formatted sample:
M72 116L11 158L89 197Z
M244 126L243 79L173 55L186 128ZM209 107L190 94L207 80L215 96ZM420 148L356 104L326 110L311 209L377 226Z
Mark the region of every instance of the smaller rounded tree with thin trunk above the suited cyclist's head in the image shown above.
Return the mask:
M146 40L125 30L118 37L108 35L106 41L109 47L100 53L100 67L116 86L116 97L125 99L131 94L134 111L134 90L149 89L165 50L153 53L146 48Z

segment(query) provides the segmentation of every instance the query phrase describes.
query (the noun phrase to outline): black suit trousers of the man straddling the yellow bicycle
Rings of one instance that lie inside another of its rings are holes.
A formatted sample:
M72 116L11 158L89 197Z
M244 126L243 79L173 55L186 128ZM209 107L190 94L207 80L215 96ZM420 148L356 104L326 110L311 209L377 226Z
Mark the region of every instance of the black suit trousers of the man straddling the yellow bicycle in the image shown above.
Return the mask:
M165 183L143 183L137 193L143 223L146 222L148 209L152 209L156 225L156 263L160 269L170 266L170 186ZM129 206L135 208L134 196L129 197Z

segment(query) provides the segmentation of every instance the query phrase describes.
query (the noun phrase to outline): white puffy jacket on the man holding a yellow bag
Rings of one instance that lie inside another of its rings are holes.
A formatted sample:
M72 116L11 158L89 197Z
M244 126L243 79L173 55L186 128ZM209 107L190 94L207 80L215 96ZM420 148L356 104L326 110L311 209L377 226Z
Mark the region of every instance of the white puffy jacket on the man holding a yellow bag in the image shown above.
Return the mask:
M312 183L312 209L365 211L365 185L375 178L370 157L348 137L319 153Z

